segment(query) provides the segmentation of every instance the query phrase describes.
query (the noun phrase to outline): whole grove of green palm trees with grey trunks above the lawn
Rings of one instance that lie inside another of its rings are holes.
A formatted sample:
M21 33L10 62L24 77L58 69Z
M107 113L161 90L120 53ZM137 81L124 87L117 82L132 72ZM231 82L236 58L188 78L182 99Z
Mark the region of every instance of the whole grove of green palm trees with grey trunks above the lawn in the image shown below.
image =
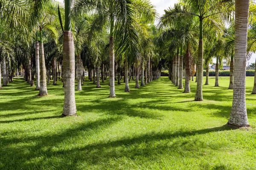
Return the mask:
M109 97L116 97L115 80L120 84L122 77L129 92L131 79L140 88L167 69L179 89L185 78L184 93L189 93L196 75L195 101L201 101L203 69L208 85L209 63L215 58L215 86L223 61L230 63L229 124L249 125L245 68L256 51L253 1L180 0L165 10L156 26L157 13L149 0L65 0L64 5L53 0L0 0L0 10L3 86L22 74L44 96L51 75L53 85L61 79L63 116L76 115L75 79L81 91L85 71L96 88L100 79L109 78Z

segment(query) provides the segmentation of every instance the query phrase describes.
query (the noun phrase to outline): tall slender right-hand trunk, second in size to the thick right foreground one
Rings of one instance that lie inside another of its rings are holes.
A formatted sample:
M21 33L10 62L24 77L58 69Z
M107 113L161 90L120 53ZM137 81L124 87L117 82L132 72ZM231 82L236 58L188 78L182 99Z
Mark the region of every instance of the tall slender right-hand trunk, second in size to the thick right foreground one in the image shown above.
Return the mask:
M198 63L196 66L196 92L195 92L195 101L202 101L203 100L203 18L200 18L200 35L199 35L199 45L198 45Z

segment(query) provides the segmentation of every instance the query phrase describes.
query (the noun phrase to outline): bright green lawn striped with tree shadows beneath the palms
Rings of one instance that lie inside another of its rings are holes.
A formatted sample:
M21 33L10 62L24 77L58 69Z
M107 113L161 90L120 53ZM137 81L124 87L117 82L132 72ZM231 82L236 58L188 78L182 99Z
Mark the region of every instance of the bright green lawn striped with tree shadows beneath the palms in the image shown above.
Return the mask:
M61 117L62 84L47 85L49 96L23 79L0 90L0 169L201 169L256 168L256 130L231 129L229 77L183 94L168 77L108 98L108 81L95 88L85 81L76 91L78 117ZM52 82L51 82L52 83ZM256 126L253 77L247 77L247 114Z

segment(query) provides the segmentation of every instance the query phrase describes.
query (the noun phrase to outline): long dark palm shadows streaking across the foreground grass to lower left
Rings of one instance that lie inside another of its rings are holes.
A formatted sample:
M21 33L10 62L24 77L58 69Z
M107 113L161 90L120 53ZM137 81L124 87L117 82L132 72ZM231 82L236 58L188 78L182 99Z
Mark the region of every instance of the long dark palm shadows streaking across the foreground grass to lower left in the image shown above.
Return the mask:
M99 142L73 143L78 136L80 138L82 136L83 138L95 136L108 126L122 119L122 116L99 119L77 125L74 128L63 130L49 136L2 139L1 148L3 150L1 155L6 161L2 161L1 166L2 168L9 167L10 169L16 169L17 167L19 169L43 169L43 167L77 169L81 165L98 165L104 167L109 161L116 161L121 158L134 160L146 158L148 160L155 157L157 159L159 153L178 155L181 157L192 156L193 154L201 152L198 148L207 147L212 150L219 150L221 146L217 144L209 146L198 139L186 137L231 130L230 127L224 125L195 131L151 132L131 138L119 138L117 140L112 138L112 140L108 142L99 138L97 139ZM31 142L33 142L33 144L31 144ZM17 150L13 144L23 145ZM192 153L189 152L192 150L194 150ZM14 157L15 161L9 161L13 160ZM49 161L49 159L57 161Z

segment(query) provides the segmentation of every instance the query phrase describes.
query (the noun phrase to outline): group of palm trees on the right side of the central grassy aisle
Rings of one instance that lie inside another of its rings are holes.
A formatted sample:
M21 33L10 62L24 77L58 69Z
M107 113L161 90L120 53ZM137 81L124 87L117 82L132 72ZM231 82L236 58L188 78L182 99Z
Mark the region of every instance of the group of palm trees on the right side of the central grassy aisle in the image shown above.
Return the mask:
M189 79L195 74L196 65L195 101L203 100L203 68L206 68L205 84L208 85L209 63L216 58L215 86L218 86L219 64L223 59L230 62L229 89L233 89L233 105L228 124L239 127L249 126L245 70L247 57L255 52L255 8L255 3L249 0L180 0L173 8L165 10L159 23L159 42L169 48L169 78L179 88L183 88L185 54L185 93L190 92ZM229 28L226 28L227 23L230 23Z

